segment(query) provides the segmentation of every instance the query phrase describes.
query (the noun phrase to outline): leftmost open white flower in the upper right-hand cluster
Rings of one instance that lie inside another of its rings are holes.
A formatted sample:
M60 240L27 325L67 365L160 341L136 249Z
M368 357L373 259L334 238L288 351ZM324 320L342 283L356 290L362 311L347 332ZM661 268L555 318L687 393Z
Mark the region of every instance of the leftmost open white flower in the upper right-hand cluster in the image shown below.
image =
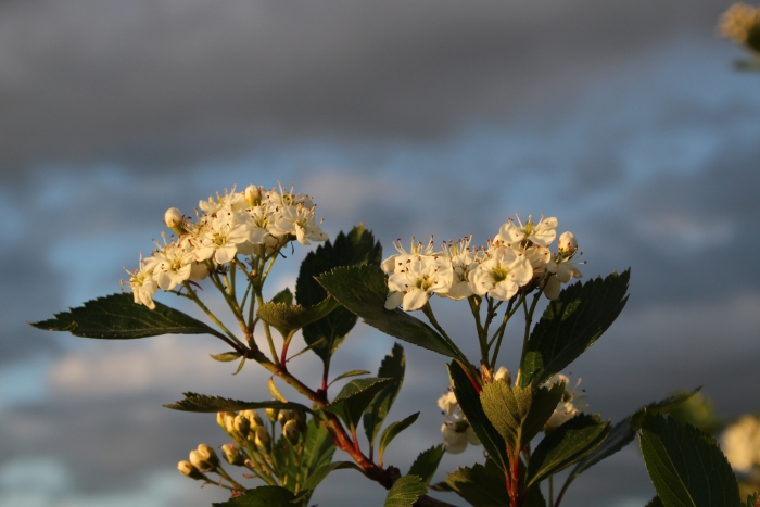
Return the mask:
M390 293L385 308L403 303L404 312L420 309L432 292L445 293L452 287L452 262L445 256L410 255L388 279Z

